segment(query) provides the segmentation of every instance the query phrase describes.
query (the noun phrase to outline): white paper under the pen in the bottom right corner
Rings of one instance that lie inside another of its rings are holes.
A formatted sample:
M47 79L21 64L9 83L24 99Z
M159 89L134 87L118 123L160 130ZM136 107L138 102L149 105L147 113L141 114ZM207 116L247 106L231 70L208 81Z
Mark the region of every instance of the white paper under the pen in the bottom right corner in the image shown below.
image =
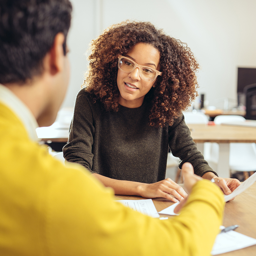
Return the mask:
M256 244L256 239L240 234L236 231L220 233L213 244L212 255L232 252Z

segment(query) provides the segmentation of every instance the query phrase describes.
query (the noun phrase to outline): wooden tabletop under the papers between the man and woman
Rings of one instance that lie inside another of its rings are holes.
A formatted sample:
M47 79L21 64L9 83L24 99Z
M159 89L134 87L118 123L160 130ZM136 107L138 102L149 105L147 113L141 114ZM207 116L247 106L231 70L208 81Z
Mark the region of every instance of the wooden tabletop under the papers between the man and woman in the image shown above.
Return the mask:
M183 184L180 185L183 186ZM116 196L116 199L139 200L145 198L139 196ZM158 212L173 204L171 201L164 198L154 198L152 200ZM160 216L168 216L169 218L173 217L164 214L160 214ZM228 227L231 225L239 225L239 228L236 229L237 232L256 239L256 183L240 195L236 196L235 200L226 204L223 226ZM219 255L254 256L256 255L256 245Z

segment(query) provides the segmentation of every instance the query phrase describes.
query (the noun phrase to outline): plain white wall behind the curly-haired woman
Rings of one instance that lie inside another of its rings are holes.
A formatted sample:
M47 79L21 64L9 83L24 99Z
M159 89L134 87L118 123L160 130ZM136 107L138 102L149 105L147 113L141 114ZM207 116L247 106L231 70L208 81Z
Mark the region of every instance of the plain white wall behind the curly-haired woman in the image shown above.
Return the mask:
M256 68L255 0L71 0L71 78L63 107L72 107L87 68L90 41L127 19L150 21L186 42L198 60L199 93L209 105L236 105L237 67Z

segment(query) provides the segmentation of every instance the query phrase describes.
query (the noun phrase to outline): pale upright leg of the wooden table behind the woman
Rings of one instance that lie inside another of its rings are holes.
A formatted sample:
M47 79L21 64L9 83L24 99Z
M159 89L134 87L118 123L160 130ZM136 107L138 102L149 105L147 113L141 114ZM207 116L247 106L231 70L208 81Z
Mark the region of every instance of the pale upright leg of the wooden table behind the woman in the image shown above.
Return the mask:
M229 172L229 143L219 143L219 162L217 165L217 173L219 177L230 178Z

